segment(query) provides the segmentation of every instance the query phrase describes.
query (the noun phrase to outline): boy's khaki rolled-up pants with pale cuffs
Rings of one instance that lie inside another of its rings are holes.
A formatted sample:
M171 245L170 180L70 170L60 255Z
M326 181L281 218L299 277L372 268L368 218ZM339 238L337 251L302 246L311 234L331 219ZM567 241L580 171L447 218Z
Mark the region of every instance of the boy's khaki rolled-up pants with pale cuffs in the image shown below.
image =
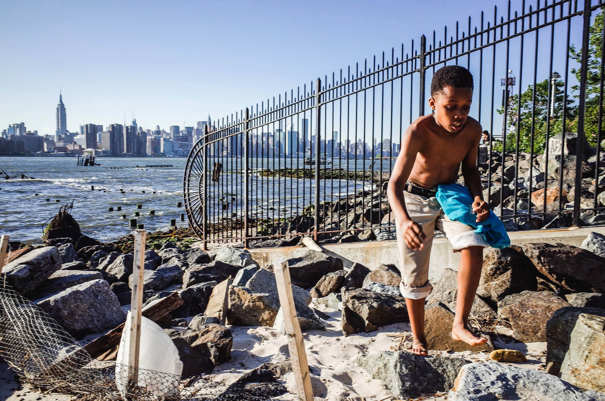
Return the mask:
M402 296L406 298L422 299L433 290L428 280L428 267L435 227L450 241L454 252L468 247L488 248L489 245L481 234L474 232L474 227L450 220L443 213L436 197L419 196L407 191L404 191L404 196L405 207L410 218L422 227L422 232L427 239L422 249L411 250L405 245L404 233L399 229L399 224L396 224L399 270L402 279L399 288Z

